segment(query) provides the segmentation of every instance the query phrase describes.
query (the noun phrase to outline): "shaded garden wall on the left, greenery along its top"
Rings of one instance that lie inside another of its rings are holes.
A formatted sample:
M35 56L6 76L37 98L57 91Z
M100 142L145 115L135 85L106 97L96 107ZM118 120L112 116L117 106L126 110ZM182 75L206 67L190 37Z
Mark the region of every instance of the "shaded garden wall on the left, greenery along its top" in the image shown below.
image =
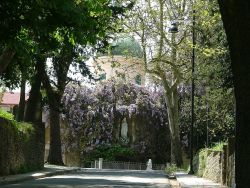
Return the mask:
M42 169L44 126L0 117L0 176Z

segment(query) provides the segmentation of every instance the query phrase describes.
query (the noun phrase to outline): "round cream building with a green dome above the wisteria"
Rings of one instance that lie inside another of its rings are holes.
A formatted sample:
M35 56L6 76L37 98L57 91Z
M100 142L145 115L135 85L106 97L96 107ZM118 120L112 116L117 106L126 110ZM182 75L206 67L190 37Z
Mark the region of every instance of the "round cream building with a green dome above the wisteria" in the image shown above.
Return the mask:
M119 79L124 82L145 85L145 69L142 50L133 37L123 37L112 44L106 54L100 54L94 61L99 80Z

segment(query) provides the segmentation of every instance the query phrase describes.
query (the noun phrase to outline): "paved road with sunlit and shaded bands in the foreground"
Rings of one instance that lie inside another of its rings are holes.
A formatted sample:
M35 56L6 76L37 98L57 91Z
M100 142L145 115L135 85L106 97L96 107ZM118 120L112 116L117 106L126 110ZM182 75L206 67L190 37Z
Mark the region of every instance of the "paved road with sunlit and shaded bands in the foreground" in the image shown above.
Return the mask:
M25 181L2 188L146 187L170 188L169 180L158 171L90 170Z

